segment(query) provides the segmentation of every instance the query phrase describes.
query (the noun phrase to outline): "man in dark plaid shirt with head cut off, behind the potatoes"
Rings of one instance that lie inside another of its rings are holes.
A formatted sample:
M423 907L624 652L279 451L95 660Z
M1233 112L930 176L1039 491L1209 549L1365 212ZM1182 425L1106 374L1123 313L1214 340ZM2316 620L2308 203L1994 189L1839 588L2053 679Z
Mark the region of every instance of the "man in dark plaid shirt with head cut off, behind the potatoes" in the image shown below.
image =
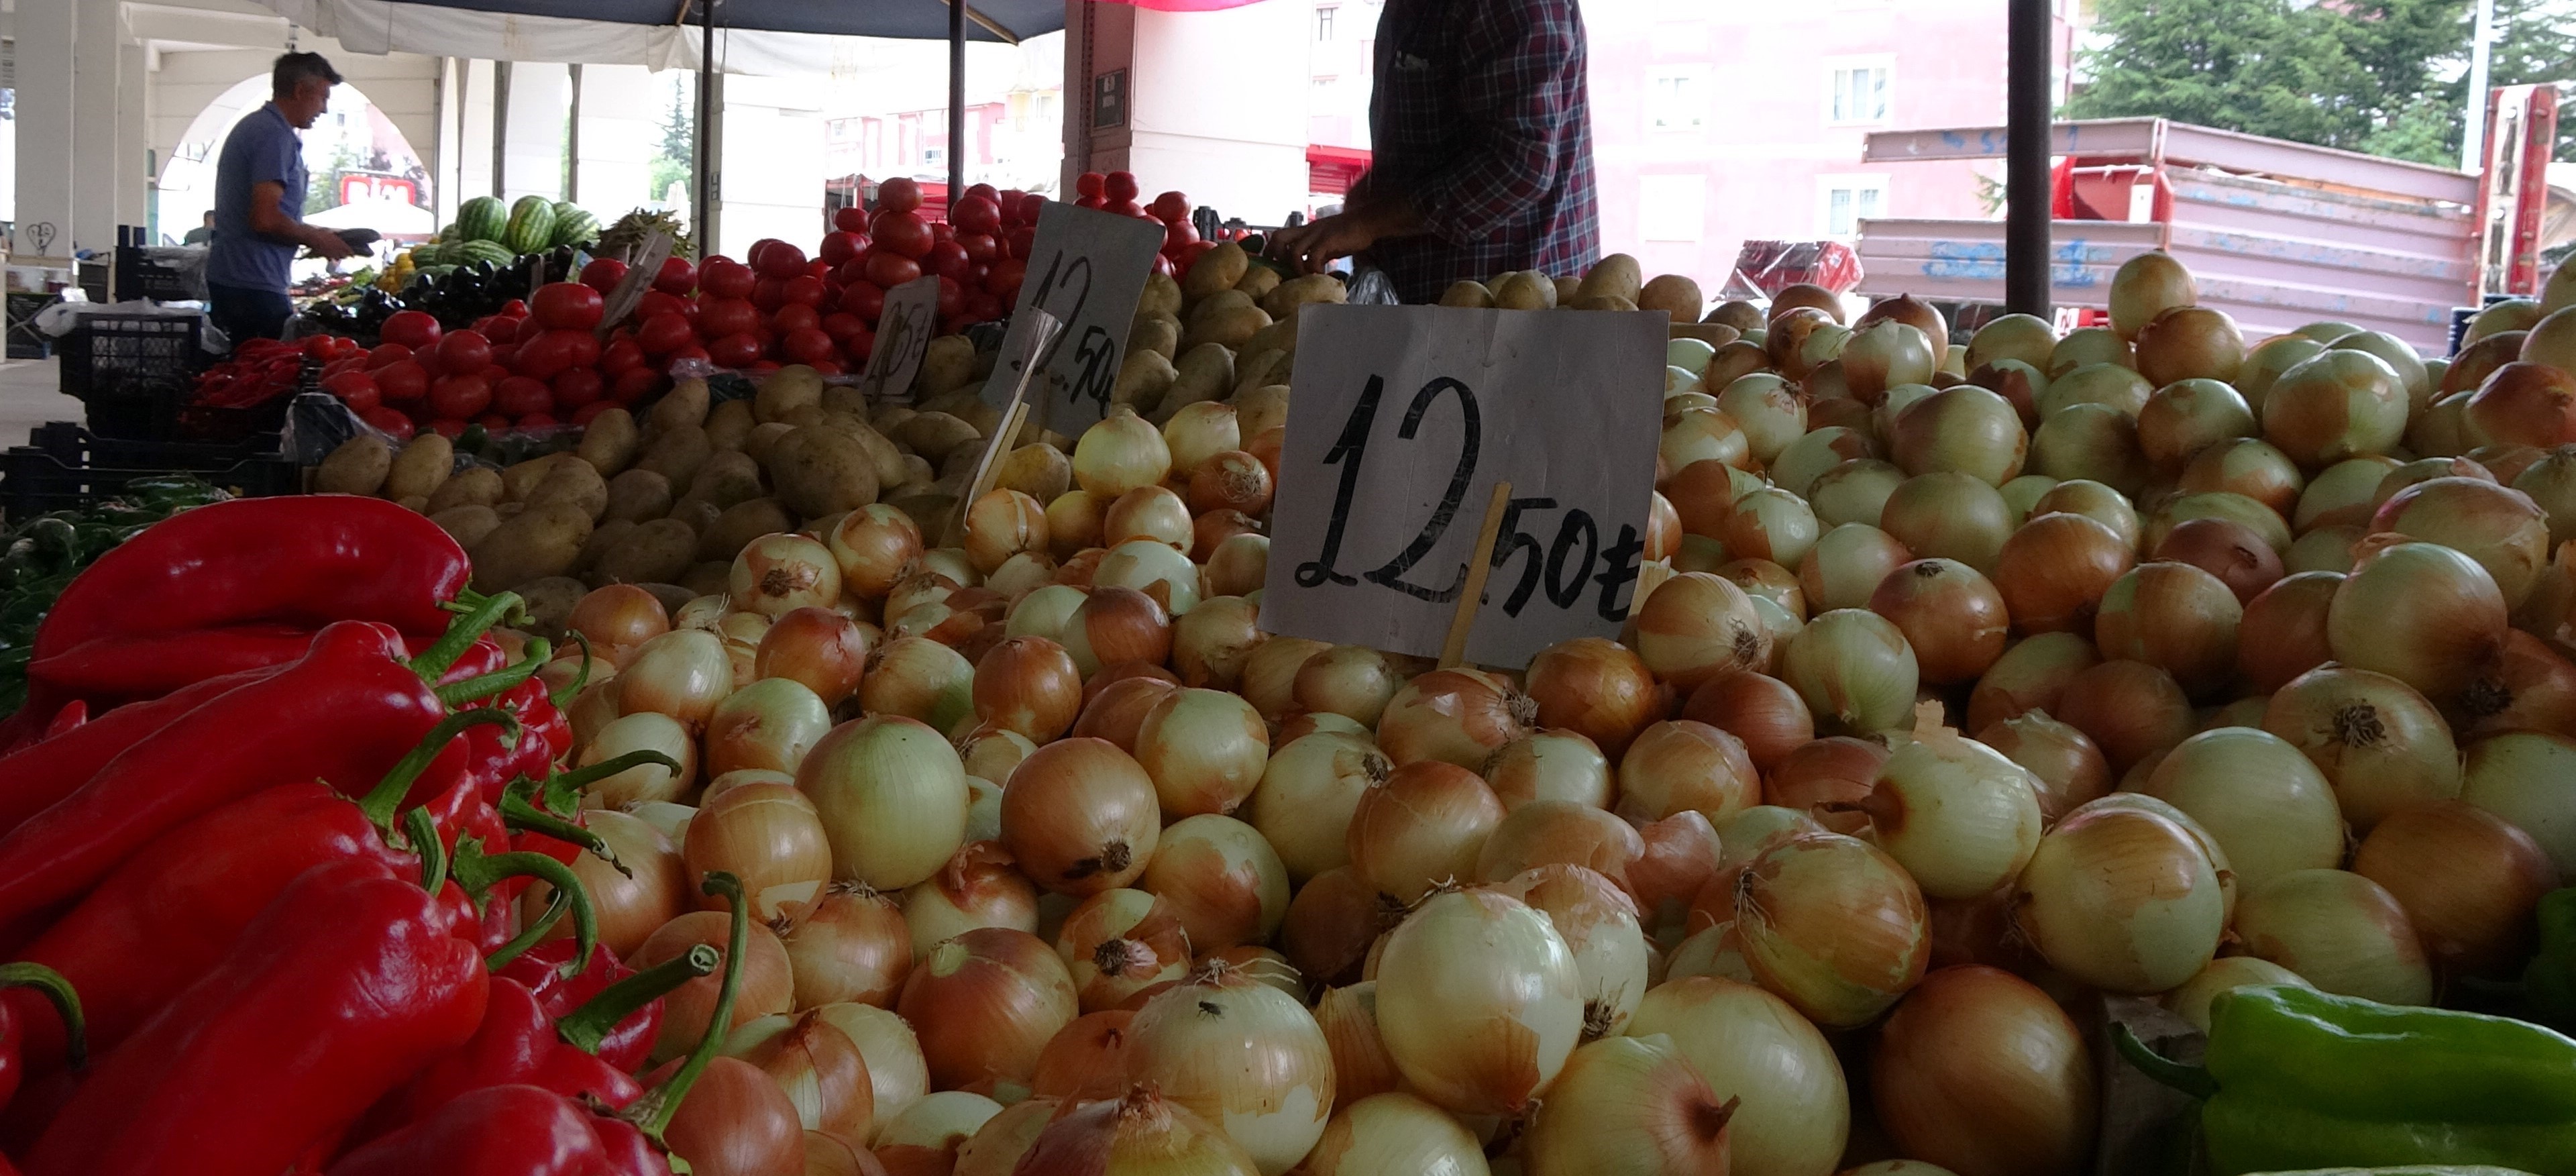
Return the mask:
M1427 304L1461 278L1571 275L1600 255L1574 0L1388 0L1368 131L1376 160L1345 211L1280 229L1273 257L1316 273L1358 255Z

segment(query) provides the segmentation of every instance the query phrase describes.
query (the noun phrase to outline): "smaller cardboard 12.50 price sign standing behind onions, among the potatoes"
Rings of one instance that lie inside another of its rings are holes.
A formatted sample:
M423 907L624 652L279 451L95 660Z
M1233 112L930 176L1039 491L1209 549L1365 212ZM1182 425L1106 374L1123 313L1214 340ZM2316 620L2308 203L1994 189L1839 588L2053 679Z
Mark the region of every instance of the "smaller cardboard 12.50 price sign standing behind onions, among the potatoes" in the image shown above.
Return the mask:
M1136 299L1162 250L1162 229L1133 216L1115 216L1061 201L1038 214L1038 237L1028 247L1028 280L1010 314L1002 342L1005 363L984 381L984 404L1010 401L1020 383L1010 340L1028 332L1028 309L1043 309L1064 322L1064 335L1038 353L1038 381L1028 389L1028 419L1079 437L1110 414L1110 389L1126 355L1126 332L1136 322Z

